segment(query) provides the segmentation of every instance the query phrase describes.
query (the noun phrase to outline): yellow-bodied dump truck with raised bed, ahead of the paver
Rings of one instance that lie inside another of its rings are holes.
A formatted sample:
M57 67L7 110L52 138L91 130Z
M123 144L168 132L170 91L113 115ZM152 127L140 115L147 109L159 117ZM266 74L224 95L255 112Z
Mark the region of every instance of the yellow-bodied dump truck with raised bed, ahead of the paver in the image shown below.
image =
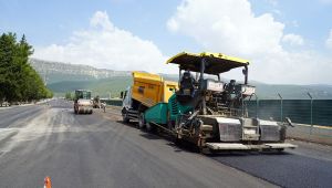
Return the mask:
M157 74L133 72L133 85L121 93L123 98L123 122L138 121L138 127L145 128L144 112L157 103L167 103L178 88L177 82L165 81ZM146 127L151 129L151 126Z

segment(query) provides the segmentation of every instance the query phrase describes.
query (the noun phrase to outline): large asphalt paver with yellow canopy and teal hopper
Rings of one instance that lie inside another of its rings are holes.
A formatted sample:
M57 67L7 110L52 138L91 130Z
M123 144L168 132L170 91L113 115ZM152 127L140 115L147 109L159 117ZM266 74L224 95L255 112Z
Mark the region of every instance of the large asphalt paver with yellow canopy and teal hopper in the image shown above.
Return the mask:
M176 143L189 142L205 152L297 147L284 142L290 119L248 117L246 102L256 95L256 87L248 83L249 61L221 53L181 52L168 63L179 67L179 87L168 101L141 103L146 104L144 111L137 107L142 127L158 128L174 136ZM243 81L222 82L220 76L234 69L242 69ZM135 85L133 98L145 96L144 88Z

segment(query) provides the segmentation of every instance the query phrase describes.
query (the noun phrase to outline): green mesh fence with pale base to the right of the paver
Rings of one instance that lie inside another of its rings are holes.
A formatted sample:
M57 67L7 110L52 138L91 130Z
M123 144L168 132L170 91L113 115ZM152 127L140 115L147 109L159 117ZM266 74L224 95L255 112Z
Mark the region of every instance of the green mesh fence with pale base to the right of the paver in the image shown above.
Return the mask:
M283 100L279 95L279 100L245 101L245 106L249 117L280 122L291 118L295 126L288 127L289 138L332 145L332 100L308 96L309 100Z

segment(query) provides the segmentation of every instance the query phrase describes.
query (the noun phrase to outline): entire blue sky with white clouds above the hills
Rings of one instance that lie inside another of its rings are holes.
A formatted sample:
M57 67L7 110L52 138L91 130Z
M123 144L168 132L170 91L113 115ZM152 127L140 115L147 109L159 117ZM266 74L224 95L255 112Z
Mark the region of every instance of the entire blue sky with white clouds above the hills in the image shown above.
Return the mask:
M177 74L167 59L207 51L249 60L249 80L332 85L332 0L0 0L3 32L49 61Z

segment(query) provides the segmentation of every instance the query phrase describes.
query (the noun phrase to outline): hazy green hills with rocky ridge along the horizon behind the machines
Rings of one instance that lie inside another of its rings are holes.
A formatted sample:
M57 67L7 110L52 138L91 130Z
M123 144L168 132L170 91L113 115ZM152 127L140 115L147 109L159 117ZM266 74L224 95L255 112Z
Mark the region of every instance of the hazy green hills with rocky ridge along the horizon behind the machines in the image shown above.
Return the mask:
M101 97L118 96L131 83L131 72L95 69L89 65L69 64L61 62L49 62L43 60L30 59L31 65L46 80L48 87L56 96L64 96L66 92L77 88L86 88L93 95ZM177 81L177 75L162 74L165 80ZM228 82L225 80L225 82ZM309 98L308 92L314 98L332 98L332 85L271 85L261 82L249 82L257 87L259 98L279 98L278 93L283 98L303 100Z

